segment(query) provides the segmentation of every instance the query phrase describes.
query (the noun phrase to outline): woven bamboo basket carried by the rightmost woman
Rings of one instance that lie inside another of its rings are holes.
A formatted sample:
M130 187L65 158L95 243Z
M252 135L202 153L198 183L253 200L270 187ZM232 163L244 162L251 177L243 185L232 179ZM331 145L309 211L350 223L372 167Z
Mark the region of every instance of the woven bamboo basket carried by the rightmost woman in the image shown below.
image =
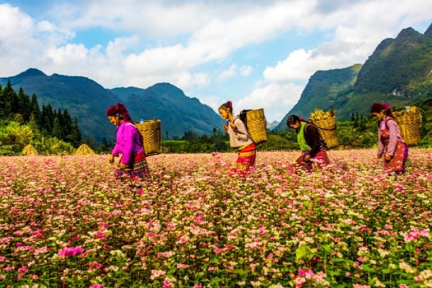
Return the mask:
M394 116L398 122L399 132L408 146L417 146L420 141L420 113Z

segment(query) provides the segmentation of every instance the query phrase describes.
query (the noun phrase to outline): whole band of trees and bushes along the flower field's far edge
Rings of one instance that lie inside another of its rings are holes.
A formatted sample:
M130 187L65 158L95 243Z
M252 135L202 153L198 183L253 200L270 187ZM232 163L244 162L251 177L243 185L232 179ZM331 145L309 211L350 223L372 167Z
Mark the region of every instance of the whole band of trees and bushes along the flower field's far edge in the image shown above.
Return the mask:
M432 98L418 104L422 107L423 124L420 130L420 146L430 147L432 143ZM394 109L393 109L394 110ZM352 113L348 121L337 121L337 138L341 147L372 148L377 143L377 122L369 115L364 117ZM167 135L168 136L168 135ZM269 131L268 141L257 146L258 151L298 150L296 132L286 129ZM35 94L30 98L20 88L15 93L10 81L5 87L0 84L0 155L18 155L27 144L31 144L40 154L70 154L81 144L86 143L97 153L110 153L114 143L103 138L99 146L91 135L83 139L78 119L66 109L54 110L50 104L40 109ZM164 153L209 153L233 152L229 147L228 135L220 128L212 133L199 135L186 131L182 137L162 141Z

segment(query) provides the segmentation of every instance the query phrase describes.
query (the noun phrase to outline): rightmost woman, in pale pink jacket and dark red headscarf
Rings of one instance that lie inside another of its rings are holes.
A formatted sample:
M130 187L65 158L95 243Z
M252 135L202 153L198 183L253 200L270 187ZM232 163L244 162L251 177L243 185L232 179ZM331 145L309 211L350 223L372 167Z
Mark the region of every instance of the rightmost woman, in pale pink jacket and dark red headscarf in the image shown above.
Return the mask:
M408 146L399 132L398 123L387 103L373 103L370 113L378 122L378 159L383 158L384 171L404 172L408 158Z

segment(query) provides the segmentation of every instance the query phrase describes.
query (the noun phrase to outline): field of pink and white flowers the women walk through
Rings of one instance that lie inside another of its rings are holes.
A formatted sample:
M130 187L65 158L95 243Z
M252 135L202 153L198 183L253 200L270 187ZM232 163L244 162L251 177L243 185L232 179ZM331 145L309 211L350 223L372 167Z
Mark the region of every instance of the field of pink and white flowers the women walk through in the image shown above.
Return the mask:
M432 287L432 149L387 175L375 150L0 157L0 287Z

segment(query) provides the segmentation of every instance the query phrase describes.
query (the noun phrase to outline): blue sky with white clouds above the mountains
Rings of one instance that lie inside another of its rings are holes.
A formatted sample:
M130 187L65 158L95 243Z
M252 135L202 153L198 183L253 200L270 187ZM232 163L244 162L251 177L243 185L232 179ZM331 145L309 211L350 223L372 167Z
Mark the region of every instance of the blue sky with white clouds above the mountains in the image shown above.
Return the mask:
M317 70L363 64L404 28L423 33L430 11L430 0L0 0L0 77L169 82L214 110L231 100L280 121Z

